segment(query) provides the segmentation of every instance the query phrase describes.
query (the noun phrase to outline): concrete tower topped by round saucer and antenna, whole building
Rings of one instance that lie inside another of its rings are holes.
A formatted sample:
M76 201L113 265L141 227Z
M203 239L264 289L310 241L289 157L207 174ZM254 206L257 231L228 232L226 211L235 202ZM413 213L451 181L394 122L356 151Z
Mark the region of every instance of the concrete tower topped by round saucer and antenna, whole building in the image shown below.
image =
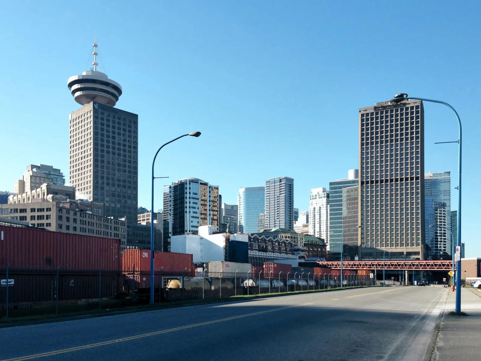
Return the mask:
M69 116L70 185L78 198L103 203L107 217L137 224L138 115L114 108L122 87L97 71L93 48L93 67L67 81L83 105Z

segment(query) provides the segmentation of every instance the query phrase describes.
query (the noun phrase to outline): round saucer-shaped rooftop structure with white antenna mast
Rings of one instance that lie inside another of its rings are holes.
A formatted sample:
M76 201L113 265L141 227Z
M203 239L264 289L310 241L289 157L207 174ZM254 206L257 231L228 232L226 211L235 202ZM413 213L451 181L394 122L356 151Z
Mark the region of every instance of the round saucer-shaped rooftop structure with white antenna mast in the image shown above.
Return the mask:
M109 79L106 74L97 71L97 42L93 43L93 67L84 71L82 75L69 77L67 81L75 101L81 105L90 102L115 106L122 95L122 87L116 81Z

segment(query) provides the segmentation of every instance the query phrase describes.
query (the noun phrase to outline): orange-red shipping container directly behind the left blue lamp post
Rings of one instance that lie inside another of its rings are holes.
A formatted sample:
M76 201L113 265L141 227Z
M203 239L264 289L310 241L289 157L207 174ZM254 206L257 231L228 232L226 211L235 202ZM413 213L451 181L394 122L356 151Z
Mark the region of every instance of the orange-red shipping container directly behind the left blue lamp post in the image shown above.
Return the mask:
M122 270L126 274L132 273L132 265L135 271L150 272L151 253L150 249L126 249L122 256ZM192 255L188 253L154 251L154 272L158 273L162 268L165 275L181 275L185 270L186 276L192 276Z

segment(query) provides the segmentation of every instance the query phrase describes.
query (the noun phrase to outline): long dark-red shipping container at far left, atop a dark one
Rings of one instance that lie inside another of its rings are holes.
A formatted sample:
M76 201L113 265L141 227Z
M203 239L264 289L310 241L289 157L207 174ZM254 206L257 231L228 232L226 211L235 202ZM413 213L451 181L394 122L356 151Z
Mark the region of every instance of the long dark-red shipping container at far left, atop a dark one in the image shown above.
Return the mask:
M120 240L0 226L0 268L119 271Z

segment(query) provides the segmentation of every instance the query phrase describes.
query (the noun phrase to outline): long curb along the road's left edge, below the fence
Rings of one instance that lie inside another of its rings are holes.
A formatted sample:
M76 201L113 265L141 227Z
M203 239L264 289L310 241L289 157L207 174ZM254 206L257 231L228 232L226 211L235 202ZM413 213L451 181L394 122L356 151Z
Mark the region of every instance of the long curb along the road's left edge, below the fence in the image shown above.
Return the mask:
M226 303L226 302L248 302L254 299L264 299L264 298L272 298L272 297L286 297L286 296L297 296L297 295L306 295L306 294L315 294L315 293L323 293L323 292L331 292L331 291L342 291L342 290L352 290L358 288L368 288L374 286L357 286L357 287L349 287L349 288L334 288L330 290L314 290L314 291L304 291L304 292L292 292L292 293L283 293L281 295L272 294L271 295L264 295L264 296L255 296L252 297L245 297L240 299L219 299L219 300L212 300L212 301L204 301L204 302L195 302L195 303L184 303L179 305L165 305L165 306L157 306L157 307L145 307L139 309L126 309L121 311L112 311L112 312L102 312L102 313L95 313L90 315L79 315L79 316L66 316L66 317L56 317L46 320L32 320L32 321L18 321L18 322L8 322L8 323L0 323L0 328L8 328L8 327L18 327L18 326L30 326L36 324L43 324L43 323L54 323L54 322L64 322L64 321L75 321L75 320L85 320L89 318L97 318L97 317L105 317L105 316L115 316L115 315L123 315L127 313L137 313L137 312L145 312L145 311L157 311L160 309L174 309L180 307L190 307L190 306L199 306L199 305L211 305L215 303ZM381 287L381 286L376 286Z

